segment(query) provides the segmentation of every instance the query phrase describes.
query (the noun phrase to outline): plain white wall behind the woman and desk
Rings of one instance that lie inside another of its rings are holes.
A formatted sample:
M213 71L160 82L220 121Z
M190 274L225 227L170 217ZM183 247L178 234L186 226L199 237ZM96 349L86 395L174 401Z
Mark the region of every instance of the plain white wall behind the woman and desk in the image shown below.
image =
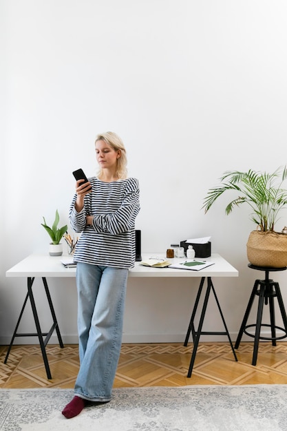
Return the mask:
M215 284L236 338L261 275L247 268L254 227L247 207L224 214L228 197L206 215L201 207L224 171L286 163L286 17L284 0L0 2L1 344L10 341L26 289L5 272L47 251L42 216L52 222L59 209L67 222L72 171L94 174L94 138L107 130L123 138L129 174L140 180L142 251L211 235L213 252L240 271ZM284 225L286 213L278 230ZM286 301L286 274L276 280ZM63 339L76 342L74 281L48 282ZM130 280L124 340L182 341L196 287ZM213 304L207 324L221 328ZM34 330L29 310L22 326Z

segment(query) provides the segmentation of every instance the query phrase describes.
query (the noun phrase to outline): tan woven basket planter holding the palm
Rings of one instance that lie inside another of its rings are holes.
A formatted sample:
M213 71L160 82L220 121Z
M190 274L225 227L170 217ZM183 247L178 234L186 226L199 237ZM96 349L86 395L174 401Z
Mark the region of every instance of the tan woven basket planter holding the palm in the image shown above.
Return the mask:
M247 241L248 261L256 266L287 266L287 235L277 232L252 231Z

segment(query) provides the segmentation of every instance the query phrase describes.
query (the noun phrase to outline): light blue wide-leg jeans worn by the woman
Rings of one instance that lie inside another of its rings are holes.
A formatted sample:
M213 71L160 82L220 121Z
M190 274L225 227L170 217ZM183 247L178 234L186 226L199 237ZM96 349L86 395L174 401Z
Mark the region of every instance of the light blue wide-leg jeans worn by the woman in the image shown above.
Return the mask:
M127 269L77 263L80 370L75 395L110 401L123 333Z

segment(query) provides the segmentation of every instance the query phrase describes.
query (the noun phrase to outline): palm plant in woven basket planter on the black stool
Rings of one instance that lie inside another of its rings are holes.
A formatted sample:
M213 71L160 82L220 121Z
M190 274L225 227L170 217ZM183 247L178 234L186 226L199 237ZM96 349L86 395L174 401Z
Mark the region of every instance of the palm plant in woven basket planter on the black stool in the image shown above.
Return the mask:
M226 214L244 203L251 207L251 220L257 225L246 244L251 264L275 268L287 266L286 227L281 233L275 232L279 213L287 206L287 190L282 188L286 178L286 166L278 168L272 174L252 169L247 172L227 171L220 178L222 184L209 189L204 198L205 213L226 191L235 193L235 198L225 209Z

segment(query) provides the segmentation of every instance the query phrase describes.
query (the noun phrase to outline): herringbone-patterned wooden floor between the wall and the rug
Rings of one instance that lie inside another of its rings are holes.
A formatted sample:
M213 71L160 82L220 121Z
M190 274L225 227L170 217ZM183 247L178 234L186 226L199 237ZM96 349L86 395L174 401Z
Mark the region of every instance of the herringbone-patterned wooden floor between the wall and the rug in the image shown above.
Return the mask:
M252 366L253 343L240 344L238 362L228 343L200 343L191 378L187 370L193 344L123 344L114 387L246 385L287 383L287 342L273 347L260 342ZM52 380L47 380L41 350L36 345L0 346L0 388L73 388L78 373L78 346L46 347Z

